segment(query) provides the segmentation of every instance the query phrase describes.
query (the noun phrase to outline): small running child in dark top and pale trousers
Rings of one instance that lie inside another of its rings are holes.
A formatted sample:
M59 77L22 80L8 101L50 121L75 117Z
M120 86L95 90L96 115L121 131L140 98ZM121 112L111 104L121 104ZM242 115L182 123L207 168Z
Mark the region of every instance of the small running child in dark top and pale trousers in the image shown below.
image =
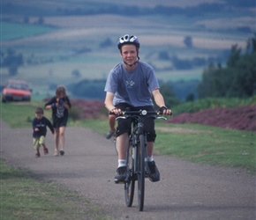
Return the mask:
M54 128L51 122L43 116L43 109L37 107L35 109L35 118L32 121L33 128L33 145L36 150L35 158L40 158L40 147L43 147L44 155L49 153L48 149L45 146L45 136L47 133L47 127L51 130L51 133L54 134Z

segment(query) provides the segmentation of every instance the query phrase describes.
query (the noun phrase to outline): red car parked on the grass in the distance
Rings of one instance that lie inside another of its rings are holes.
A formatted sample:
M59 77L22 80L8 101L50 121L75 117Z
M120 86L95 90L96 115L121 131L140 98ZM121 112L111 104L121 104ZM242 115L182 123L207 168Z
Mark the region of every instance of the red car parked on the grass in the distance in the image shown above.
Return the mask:
M6 101L30 101L31 92L28 84L20 80L8 80L2 90L2 102Z

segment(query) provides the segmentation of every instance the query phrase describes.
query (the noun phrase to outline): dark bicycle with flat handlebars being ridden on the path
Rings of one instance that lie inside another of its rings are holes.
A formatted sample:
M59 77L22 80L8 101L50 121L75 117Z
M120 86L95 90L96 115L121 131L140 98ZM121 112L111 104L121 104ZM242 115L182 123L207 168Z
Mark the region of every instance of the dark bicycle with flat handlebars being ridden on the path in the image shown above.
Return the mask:
M126 151L127 176L124 180L124 196L127 207L132 207L135 181L138 180L138 207L144 209L145 177L149 174L147 162L147 134L143 132L144 121L148 117L167 120L155 111L126 109L117 119L132 118L132 133L129 136L129 147Z

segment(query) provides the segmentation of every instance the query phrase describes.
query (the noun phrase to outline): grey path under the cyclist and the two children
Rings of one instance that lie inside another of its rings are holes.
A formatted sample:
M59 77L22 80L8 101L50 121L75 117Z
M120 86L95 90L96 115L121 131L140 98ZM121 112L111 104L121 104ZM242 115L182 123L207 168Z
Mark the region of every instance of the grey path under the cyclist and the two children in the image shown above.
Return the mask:
M139 212L137 197L132 208L125 207L124 185L113 180L117 155L103 136L86 128L67 128L65 155L53 157L49 132L49 155L34 158L32 129L11 129L0 122L1 158L79 192L115 219L256 219L256 177L245 171L154 156L162 180L146 181L145 210Z

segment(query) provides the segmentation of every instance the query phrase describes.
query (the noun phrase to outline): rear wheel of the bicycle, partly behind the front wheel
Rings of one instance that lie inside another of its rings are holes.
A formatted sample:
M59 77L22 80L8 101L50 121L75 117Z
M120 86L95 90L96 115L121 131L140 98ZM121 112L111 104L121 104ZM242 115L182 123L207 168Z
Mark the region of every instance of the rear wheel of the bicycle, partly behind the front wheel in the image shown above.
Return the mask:
M127 178L124 182L124 196L125 203L127 207L132 206L134 187L135 187L135 177L134 177L134 159L132 158L132 146L126 152L127 161Z

